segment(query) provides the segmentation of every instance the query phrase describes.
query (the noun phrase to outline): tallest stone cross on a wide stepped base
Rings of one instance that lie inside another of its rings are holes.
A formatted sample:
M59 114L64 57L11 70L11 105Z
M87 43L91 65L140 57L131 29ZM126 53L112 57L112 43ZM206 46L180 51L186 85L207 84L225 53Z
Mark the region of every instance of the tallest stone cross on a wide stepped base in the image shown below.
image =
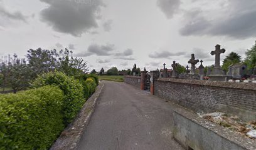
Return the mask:
M210 81L228 81L228 76L220 67L220 54L225 53L225 49L220 49L220 45L215 46L215 51L211 51L211 55L215 55L215 66L209 75Z

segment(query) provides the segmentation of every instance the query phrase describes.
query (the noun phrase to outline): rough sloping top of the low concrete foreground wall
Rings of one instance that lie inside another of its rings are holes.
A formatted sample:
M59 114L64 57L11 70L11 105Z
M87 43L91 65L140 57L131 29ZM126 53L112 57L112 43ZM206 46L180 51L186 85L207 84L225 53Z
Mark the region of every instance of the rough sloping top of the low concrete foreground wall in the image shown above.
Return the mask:
M231 141L232 143L235 143L239 146L242 146L245 149L256 149L256 142L253 139L242 136L241 134L231 131L228 128L224 128L223 126L220 126L218 124L212 123L207 119L200 118L198 114L192 113L189 110L183 108L174 108L173 111L174 113L179 114L184 118L187 118L194 123L199 124L200 126L203 126L203 128L213 131L213 133L218 134L222 138L227 139L228 141Z

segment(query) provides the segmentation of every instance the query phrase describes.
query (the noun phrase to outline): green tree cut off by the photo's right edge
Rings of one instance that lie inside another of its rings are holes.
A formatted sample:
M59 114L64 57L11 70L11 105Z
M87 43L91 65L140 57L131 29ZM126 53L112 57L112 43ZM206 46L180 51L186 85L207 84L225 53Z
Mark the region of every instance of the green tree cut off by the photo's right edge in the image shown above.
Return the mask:
M247 49L245 55L245 64L247 65L248 70L252 70L256 66L256 41L251 49Z

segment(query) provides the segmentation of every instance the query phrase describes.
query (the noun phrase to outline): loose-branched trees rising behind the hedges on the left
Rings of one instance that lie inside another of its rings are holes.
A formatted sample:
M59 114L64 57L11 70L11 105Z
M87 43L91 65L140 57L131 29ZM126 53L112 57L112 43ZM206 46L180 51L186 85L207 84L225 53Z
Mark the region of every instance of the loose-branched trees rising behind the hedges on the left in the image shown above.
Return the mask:
M68 49L29 49L26 58L16 54L0 64L0 86L11 88L14 93L29 88L40 74L60 71L68 76L79 76L88 71L87 62L74 58Z

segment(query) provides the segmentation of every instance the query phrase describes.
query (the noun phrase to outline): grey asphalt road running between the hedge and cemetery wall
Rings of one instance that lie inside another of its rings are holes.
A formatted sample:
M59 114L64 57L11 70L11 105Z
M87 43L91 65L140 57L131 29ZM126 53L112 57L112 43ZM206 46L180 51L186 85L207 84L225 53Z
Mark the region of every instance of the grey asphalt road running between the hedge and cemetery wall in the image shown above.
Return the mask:
M126 83L103 83L78 149L183 149L172 138L171 103Z

